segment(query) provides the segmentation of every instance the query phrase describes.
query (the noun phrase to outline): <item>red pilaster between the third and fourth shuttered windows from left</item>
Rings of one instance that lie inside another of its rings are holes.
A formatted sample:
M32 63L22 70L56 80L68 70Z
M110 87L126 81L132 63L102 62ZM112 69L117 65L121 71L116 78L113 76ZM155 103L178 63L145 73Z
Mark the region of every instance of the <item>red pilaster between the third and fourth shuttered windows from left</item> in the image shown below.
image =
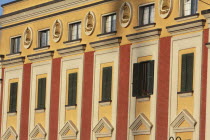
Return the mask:
M82 97L82 126L80 140L90 140L91 114L92 114L92 92L93 92L93 62L94 52L84 54L84 77Z

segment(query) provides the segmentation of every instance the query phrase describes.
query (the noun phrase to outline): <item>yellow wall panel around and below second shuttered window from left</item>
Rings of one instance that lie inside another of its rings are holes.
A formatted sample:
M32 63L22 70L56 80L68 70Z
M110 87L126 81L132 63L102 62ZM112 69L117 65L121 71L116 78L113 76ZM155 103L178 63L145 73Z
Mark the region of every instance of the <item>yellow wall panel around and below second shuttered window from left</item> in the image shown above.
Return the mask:
M38 102L38 79L40 79L40 78L47 78L47 74L41 74L41 75L36 76L36 108L37 108L37 102ZM47 85L47 83L46 83L46 85ZM47 88L46 88L46 90L47 90ZM45 101L45 103L46 103L46 101ZM45 107L46 107L46 105L45 105ZM35 117L34 117L35 125L40 123L43 127L45 127L45 117L46 117L45 110L42 110L42 111L35 110Z

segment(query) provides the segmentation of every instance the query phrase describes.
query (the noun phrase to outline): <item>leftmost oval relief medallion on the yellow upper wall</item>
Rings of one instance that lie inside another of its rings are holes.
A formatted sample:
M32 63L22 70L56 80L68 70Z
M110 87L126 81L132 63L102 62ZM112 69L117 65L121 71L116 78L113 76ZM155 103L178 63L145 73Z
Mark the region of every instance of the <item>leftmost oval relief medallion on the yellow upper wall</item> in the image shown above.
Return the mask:
M28 49L31 46L33 40L33 33L31 27L27 27L25 29L23 36L24 36L23 40L24 48Z

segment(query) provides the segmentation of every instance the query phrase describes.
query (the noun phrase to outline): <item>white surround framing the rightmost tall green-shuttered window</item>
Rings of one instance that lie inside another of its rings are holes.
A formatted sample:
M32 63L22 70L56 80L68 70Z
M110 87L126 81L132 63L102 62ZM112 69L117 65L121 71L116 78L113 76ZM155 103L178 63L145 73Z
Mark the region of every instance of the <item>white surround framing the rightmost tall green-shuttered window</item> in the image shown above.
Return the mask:
M201 98L201 62L202 62L202 47L203 47L203 32L196 32L192 34L180 35L172 37L171 39L171 57L170 57L170 87L169 87L169 117L168 124L171 124L172 121L177 116L177 92L178 92L178 52L183 49L195 48L196 59L195 70L194 73L194 83L196 86L194 87L194 109L193 109L193 118L197 122L197 126L200 126L200 98ZM189 43L190 42L190 43ZM182 45L180 45L182 44ZM184 45L183 45L184 44ZM199 139L199 131L200 127L195 127L195 131L193 133L193 139ZM175 133L173 128L168 125L168 138L172 136L175 137Z

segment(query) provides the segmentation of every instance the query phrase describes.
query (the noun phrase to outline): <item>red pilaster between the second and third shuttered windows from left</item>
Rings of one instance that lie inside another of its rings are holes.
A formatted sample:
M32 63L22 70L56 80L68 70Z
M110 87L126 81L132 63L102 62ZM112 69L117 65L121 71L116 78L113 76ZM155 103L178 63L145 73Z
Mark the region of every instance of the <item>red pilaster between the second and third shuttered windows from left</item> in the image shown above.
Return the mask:
M57 140L61 58L52 60L49 140Z

